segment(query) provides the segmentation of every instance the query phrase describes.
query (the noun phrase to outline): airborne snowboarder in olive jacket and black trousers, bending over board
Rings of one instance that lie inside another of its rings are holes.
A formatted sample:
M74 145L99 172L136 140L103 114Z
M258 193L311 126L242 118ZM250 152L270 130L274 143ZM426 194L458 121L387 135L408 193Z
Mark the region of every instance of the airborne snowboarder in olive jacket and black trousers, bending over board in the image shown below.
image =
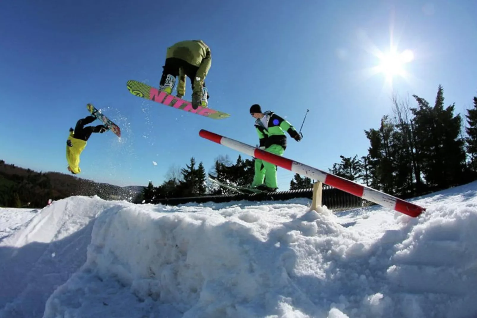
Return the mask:
M192 107L207 107L205 78L212 64L210 48L202 40L181 41L167 48L159 90L171 94L179 76L177 96L186 95L186 76L192 84Z

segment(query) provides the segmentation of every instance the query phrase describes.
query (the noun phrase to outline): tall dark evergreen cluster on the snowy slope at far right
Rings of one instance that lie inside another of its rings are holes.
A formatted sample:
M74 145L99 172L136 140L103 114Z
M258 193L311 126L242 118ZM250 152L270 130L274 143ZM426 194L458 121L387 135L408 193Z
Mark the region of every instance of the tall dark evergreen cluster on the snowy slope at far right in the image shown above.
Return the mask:
M476 180L477 96L467 109L467 125L455 104L445 106L438 86L431 106L413 95L417 105L393 97L393 116L383 116L379 128L365 130L366 156L340 156L330 172L379 191L410 198Z

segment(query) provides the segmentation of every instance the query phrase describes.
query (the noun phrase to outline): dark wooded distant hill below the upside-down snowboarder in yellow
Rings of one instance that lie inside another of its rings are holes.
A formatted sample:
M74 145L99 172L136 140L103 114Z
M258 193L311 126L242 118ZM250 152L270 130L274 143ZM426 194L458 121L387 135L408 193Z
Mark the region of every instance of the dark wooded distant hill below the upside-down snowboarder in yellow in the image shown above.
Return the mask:
M60 172L37 172L0 160L0 206L42 208L49 199L97 195L104 200L139 200L143 186L120 187ZM30 203L30 204L28 204Z

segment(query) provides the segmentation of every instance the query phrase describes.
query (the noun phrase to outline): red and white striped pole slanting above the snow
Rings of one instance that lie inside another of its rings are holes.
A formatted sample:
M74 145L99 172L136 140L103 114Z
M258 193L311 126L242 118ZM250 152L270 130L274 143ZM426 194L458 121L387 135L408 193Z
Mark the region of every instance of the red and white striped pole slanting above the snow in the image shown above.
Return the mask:
M228 148L243 152L250 157L255 157L268 161L283 169L293 171L312 180L321 181L322 183L330 185L334 188L351 193L357 197L372 201L374 203L384 206L385 208L389 208L412 217L416 217L425 211L425 208L423 207L398 199L392 195L335 176L331 173L327 173L322 170L307 166L300 162L272 154L268 151L252 147L238 140L220 136L204 129L201 129L199 131L199 136L214 141Z

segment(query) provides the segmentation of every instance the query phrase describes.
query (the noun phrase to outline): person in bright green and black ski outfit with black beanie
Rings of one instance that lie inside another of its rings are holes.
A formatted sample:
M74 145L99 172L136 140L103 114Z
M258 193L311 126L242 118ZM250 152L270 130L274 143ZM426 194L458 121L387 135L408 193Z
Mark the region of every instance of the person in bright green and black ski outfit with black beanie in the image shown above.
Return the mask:
M257 119L255 121L255 128L259 135L259 148L262 150L279 156L283 155L287 148L285 132L296 141L301 140L301 135L288 121L270 110L262 113L261 107L258 104L250 107L250 115ZM264 179L265 184L263 184ZM268 192L277 191L277 166L256 158L255 176L253 177L251 187Z

